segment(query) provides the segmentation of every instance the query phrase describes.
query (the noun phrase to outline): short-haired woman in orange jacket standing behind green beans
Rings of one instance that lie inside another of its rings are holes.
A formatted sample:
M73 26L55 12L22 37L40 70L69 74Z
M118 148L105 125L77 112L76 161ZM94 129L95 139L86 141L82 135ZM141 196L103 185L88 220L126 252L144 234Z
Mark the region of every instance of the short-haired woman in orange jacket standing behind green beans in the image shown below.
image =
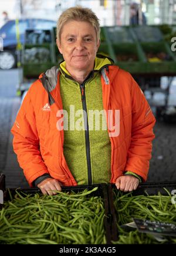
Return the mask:
M12 127L26 179L43 194L109 182L135 190L147 179L154 139L147 100L129 73L96 56L100 25L90 9L63 12L56 43L64 61L32 84ZM98 126L92 113L102 114Z

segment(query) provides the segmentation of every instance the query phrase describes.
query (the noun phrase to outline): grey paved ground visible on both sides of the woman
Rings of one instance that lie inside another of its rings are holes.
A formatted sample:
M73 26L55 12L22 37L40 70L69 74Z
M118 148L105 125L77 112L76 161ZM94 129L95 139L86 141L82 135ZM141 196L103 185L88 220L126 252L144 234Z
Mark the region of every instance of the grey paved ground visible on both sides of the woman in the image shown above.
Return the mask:
M11 76L11 81L12 81ZM15 120L21 100L15 90L1 86L0 81L0 173L6 176L6 187L28 187L12 149L10 129ZM148 181L176 181L176 123L167 124L157 120L154 127L153 158L150 161Z

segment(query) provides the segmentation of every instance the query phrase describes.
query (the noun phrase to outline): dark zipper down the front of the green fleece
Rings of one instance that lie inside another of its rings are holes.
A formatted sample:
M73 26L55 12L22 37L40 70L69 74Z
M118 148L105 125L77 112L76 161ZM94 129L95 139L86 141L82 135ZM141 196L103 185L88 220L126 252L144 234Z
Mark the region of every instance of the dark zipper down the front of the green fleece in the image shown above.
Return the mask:
M91 161L90 161L90 141L89 141L89 124L87 118L87 106L86 106L86 95L84 83L80 85L80 91L82 94L82 104L83 104L83 116L84 116L84 129L86 137L86 157L87 157L87 169L88 169L88 182L89 185L92 184L92 170L91 170Z

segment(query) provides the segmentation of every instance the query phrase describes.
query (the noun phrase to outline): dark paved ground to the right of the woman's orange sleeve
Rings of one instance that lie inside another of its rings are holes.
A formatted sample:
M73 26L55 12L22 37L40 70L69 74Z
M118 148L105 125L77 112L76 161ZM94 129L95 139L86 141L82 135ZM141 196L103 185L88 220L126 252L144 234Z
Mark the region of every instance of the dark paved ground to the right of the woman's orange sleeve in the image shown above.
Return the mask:
M148 181L176 181L176 123L157 120Z

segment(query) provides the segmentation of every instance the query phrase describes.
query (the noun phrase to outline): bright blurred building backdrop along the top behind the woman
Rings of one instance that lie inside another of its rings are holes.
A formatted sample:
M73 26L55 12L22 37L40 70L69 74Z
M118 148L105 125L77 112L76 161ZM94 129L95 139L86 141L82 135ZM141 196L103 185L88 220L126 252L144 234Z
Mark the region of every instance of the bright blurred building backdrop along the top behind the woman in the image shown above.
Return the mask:
M176 24L176 0L6 0L0 5L0 26L3 11L8 12L10 19L37 16L56 21L65 9L75 5L92 8L101 26L129 25L133 2L139 4L148 25Z

